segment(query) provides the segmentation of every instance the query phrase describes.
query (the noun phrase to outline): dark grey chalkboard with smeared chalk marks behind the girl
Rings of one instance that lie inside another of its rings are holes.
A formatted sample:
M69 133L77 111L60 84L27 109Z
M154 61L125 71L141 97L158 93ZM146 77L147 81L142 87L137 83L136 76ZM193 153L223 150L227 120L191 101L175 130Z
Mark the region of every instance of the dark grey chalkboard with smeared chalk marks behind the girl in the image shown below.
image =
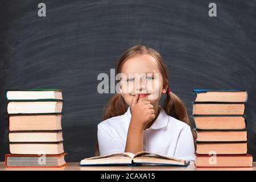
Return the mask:
M208 14L211 2L217 16ZM65 159L93 156L113 96L97 92L97 76L110 75L118 57L138 44L163 56L189 115L193 89L247 90L248 153L256 160L254 0L1 1L0 9L0 161L9 153L6 89L62 89Z

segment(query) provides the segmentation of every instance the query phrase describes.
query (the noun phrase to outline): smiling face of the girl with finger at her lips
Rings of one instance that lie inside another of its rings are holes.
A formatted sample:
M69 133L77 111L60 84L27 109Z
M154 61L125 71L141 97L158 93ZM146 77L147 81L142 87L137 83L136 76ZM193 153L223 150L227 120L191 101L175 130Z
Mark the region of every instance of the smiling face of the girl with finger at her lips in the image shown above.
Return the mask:
M125 61L122 66L120 93L126 104L131 105L135 94L139 93L139 101L148 100L158 105L162 94L166 93L168 82L163 83L158 63L150 55L138 55Z

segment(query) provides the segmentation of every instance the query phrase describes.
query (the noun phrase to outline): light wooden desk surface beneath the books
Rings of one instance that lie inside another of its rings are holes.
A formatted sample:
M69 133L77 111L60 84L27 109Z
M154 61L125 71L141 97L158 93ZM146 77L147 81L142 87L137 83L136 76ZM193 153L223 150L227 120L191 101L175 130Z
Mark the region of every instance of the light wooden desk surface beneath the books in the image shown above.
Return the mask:
M68 163L64 167L59 168L11 168L5 167L4 162L0 162L0 171L205 171L205 170L234 170L234 171L256 171L256 162L253 167L249 168L197 168L192 162L188 167L174 167L174 166L79 166L79 162Z

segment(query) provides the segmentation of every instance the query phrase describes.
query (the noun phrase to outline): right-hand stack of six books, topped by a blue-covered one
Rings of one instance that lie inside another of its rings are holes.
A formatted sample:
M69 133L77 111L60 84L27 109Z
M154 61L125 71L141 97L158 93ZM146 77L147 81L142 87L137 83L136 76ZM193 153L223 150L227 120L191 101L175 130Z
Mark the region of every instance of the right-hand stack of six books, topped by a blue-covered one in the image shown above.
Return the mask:
M247 92L244 90L193 90L197 133L197 167L252 167L247 154Z

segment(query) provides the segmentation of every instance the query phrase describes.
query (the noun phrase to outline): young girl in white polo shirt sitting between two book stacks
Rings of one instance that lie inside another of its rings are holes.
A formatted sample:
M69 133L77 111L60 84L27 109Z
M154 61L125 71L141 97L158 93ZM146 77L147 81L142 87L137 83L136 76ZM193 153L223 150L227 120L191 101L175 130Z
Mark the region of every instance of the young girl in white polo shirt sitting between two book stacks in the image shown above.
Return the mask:
M152 48L134 46L119 58L116 72L159 73L159 77L146 77L148 82L154 79L158 84L135 85L140 77L132 77L126 82L129 89L119 92L109 101L104 110L104 121L98 124L98 143L96 155L113 152L140 151L195 160L195 131L191 129L187 110L180 100L168 88L168 73L162 56ZM125 92L126 91L126 92ZM149 99L154 93L157 98ZM163 106L158 105L163 94L167 94Z

